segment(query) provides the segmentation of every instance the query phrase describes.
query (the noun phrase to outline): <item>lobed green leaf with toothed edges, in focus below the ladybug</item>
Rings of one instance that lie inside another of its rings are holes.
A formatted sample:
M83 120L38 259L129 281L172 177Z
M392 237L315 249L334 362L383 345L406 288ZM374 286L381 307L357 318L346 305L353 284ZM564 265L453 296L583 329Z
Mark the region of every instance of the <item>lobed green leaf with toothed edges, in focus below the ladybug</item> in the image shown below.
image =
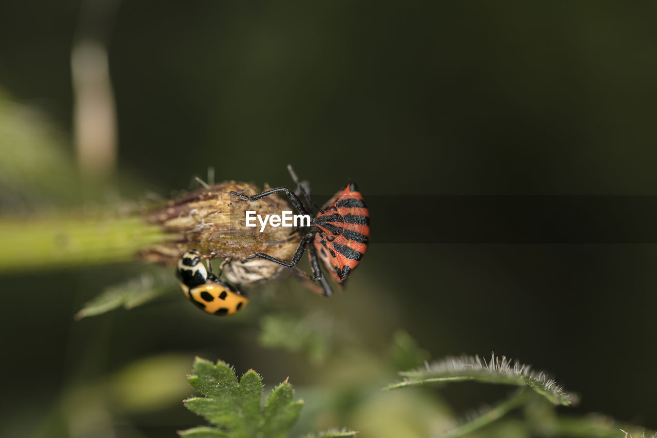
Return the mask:
M189 383L205 397L185 401L192 412L203 416L215 427L197 427L180 431L183 437L285 438L296 423L303 401L293 401L288 381L277 386L261 407L262 381L248 370L238 381L224 362L212 364L196 358Z

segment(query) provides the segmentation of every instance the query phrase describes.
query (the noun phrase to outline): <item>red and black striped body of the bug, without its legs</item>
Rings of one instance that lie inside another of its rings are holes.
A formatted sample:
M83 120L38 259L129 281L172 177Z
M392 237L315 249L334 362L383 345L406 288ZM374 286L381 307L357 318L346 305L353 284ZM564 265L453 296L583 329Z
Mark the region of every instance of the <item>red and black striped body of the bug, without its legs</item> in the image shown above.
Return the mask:
M369 211L353 182L322 210L313 221L320 229L313 244L332 278L342 283L367 251Z

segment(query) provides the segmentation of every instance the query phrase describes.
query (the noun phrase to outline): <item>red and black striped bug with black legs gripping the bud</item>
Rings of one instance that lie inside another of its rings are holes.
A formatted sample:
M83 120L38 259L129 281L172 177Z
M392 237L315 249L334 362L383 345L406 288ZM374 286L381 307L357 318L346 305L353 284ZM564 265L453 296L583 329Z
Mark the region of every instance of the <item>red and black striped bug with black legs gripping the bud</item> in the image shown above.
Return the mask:
M291 166L288 166L288 171L290 172L290 176L292 176L292 180L297 183L302 199L287 187L277 187L252 196L235 191L231 191L231 195L248 201L256 201L262 197L283 192L290 198L292 205L300 213L309 214L312 211L314 203L307 193L307 183L300 183L298 181ZM369 211L367 210L365 201L363 201L363 195L361 195L355 183L348 182L324 207L319 208L319 212L313 219L310 230L308 231L306 229L305 231L304 237L302 237L296 253L290 262L265 253L256 253L248 256L246 260L260 257L291 268L297 274L309 278L309 280L319 281L324 289L324 295L328 297L332 291L319 267L318 258L322 260L325 269L330 272L333 280L342 286L342 283L347 280L351 271L357 266L361 258L363 258L365 251L367 251L367 243L369 241ZM306 247L308 249L313 276L294 269L301 261Z

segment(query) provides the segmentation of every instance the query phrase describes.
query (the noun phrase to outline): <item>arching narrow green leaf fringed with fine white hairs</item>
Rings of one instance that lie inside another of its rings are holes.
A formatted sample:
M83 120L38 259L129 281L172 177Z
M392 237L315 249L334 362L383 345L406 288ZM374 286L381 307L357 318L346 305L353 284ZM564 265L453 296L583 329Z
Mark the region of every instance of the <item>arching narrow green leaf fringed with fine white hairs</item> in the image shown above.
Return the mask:
M460 358L446 358L440 362L427 365L424 368L399 373L405 377L404 381L388 385L384 389L396 389L411 385L425 383L447 383L451 381L474 380L482 383L499 383L530 387L553 404L568 406L574 402L575 397L566 393L553 379L544 372L535 372L531 366L514 362L505 356L502 358L491 356L486 362L479 356L462 356Z

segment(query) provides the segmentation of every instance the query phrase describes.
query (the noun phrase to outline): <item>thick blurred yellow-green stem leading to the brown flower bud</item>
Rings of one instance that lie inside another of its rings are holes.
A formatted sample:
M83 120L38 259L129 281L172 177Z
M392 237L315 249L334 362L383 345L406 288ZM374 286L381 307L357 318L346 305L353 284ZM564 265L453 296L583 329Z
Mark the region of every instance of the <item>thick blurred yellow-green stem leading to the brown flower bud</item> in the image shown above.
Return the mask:
M125 262L171 237L134 216L3 218L0 272Z

